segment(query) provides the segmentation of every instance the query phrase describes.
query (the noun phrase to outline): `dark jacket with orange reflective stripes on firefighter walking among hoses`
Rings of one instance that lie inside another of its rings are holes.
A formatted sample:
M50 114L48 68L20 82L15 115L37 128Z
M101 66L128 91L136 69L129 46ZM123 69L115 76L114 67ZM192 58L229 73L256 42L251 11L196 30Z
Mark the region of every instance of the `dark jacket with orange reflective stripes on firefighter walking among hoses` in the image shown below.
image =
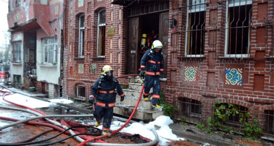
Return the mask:
M96 105L101 107L114 107L116 94L123 97L124 92L116 78L107 80L101 77L94 83L91 88L90 97L96 97Z

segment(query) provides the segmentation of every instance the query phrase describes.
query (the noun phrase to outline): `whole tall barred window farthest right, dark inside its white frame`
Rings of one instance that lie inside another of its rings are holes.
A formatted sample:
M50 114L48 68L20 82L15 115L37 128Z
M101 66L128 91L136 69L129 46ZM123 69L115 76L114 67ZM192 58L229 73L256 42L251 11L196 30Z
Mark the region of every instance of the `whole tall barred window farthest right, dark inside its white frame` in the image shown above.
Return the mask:
M227 1L225 57L248 57L252 0Z

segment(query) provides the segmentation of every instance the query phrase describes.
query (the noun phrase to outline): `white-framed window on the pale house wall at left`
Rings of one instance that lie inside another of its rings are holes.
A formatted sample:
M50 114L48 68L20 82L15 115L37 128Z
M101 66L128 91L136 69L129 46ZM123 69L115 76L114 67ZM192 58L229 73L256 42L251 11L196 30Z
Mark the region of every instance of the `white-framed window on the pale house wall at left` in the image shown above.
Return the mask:
M47 43L45 44L45 41L47 40ZM52 41L53 43L48 43L48 41ZM50 45L53 45L52 49L52 60L50 60L50 55L49 54L51 51L49 51ZM57 61L57 49L58 49L58 39L57 37L51 37L51 38L43 38L42 39L42 49L43 49L43 63L44 64L52 64L53 62ZM47 49L47 50L46 50Z

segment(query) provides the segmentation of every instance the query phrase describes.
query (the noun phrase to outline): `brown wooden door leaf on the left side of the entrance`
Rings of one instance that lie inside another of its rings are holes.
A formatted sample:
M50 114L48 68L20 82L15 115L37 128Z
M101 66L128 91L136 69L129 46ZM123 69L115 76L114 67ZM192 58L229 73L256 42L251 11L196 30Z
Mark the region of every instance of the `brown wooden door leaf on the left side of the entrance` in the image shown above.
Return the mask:
M139 36L139 18L129 19L129 37L127 43L127 60L126 71L127 74L136 74L138 72L139 65L139 53L138 53L138 36Z

